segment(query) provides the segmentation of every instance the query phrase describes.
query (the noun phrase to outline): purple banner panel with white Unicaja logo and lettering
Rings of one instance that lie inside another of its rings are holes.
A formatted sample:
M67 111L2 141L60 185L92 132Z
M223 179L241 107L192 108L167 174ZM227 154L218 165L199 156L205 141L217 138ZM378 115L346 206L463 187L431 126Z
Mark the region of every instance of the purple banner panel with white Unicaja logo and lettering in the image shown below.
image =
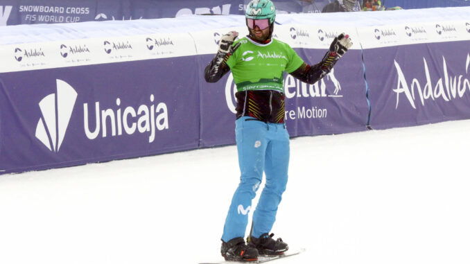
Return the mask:
M0 174L197 148L196 61L0 73Z

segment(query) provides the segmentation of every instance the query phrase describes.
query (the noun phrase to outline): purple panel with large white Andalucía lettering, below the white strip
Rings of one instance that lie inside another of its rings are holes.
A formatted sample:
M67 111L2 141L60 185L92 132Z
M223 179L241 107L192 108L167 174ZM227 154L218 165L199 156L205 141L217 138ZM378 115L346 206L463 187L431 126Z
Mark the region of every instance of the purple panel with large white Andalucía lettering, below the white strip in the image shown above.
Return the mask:
M469 45L459 41L365 49L371 127L470 118Z

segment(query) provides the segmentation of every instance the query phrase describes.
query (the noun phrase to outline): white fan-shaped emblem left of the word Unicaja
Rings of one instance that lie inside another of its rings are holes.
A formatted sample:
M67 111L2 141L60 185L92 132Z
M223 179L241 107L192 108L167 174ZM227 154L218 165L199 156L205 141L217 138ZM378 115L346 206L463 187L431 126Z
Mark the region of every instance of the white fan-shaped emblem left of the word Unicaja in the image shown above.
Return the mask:
M41 118L37 122L35 136L52 152L59 152L77 98L77 92L63 80L56 80L54 94L44 97L40 103Z

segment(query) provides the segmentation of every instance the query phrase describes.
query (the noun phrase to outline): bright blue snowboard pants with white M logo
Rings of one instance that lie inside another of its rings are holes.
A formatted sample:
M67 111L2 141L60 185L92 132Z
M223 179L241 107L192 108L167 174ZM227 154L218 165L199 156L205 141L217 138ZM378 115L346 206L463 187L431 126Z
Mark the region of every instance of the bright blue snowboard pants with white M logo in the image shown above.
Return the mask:
M289 166L289 134L284 124L263 123L243 116L236 121L236 146L240 184L232 198L222 240L245 238L252 199L266 173L266 186L253 213L252 236L269 233L277 206L286 190Z

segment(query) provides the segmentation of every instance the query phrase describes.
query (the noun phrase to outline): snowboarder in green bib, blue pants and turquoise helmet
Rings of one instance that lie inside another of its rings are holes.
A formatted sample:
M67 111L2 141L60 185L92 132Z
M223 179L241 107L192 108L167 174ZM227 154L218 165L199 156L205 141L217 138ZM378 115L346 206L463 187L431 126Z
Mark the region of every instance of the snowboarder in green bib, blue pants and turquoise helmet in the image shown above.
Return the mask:
M237 87L235 133L241 181L223 229L220 252L227 261L256 261L259 254L279 255L288 249L281 238L275 240L269 234L288 179L283 73L314 84L331 71L352 45L349 36L342 33L333 40L321 62L308 65L288 44L272 39L275 17L272 1L251 1L245 13L249 35L238 40L235 31L223 35L216 56L204 71L207 82L217 82L232 71ZM263 172L266 186L245 243L248 212Z

